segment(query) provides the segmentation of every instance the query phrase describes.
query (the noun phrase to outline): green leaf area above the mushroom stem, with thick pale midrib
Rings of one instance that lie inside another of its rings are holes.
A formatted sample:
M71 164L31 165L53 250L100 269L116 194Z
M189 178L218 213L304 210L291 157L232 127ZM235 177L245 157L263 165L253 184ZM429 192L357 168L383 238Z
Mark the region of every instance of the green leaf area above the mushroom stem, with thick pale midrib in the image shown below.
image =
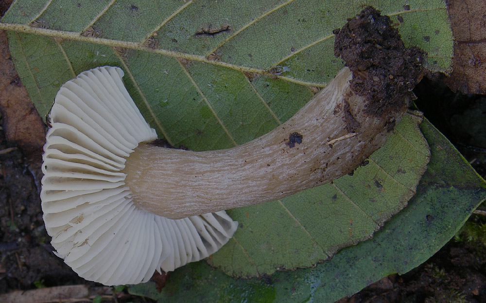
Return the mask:
M117 65L160 136L214 149L267 132L302 107L309 87L324 87L343 66L332 30L364 5L391 16L407 45L426 50L429 69L450 69L442 0L16 0L0 29L10 31L18 73L41 116L64 82ZM245 77L252 73L255 81Z

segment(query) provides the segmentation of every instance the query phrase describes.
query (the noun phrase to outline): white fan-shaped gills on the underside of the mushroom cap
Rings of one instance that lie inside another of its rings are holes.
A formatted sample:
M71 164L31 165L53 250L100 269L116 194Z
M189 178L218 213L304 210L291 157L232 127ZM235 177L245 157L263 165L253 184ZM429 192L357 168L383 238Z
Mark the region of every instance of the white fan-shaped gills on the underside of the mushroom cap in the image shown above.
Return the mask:
M52 246L79 276L104 285L146 282L220 249L236 231L224 211L168 219L140 210L125 184L128 155L156 139L117 67L64 84L44 146L42 210Z

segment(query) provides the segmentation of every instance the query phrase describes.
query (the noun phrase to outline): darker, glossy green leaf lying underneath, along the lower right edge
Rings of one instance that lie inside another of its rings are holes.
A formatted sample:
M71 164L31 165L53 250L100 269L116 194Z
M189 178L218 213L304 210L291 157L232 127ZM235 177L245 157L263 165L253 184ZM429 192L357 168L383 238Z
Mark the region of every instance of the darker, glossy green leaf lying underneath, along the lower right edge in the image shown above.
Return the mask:
M204 262L190 264L172 273L162 292L150 297L164 303L331 303L386 275L417 267L445 245L486 198L485 181L452 144L428 121L420 127L431 147L427 171L409 205L373 239L341 250L315 268L264 279L232 279ZM154 287L150 282L129 291L148 295Z

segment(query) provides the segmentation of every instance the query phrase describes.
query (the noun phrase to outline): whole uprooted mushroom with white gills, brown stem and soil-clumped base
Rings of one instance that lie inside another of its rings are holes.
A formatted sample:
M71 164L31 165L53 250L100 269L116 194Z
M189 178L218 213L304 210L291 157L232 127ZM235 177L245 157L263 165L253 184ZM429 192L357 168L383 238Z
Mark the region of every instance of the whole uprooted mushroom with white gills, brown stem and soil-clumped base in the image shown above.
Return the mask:
M225 150L152 144L156 132L120 68L68 81L51 110L42 167L44 221L57 255L87 280L144 282L221 248L237 228L225 210L352 172L385 143L422 73L423 52L405 49L383 18L366 8L349 20L335 49L350 67L287 122ZM376 28L354 33L367 29L363 22Z

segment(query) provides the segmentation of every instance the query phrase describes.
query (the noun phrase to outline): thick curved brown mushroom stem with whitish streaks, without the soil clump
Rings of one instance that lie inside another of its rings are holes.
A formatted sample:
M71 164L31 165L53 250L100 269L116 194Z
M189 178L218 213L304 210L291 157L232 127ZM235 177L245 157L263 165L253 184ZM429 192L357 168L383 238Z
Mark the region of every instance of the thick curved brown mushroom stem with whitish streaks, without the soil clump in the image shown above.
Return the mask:
M350 173L386 141L403 116L374 115L341 70L292 118L226 150L194 152L141 143L123 172L136 205L172 219L292 195Z

